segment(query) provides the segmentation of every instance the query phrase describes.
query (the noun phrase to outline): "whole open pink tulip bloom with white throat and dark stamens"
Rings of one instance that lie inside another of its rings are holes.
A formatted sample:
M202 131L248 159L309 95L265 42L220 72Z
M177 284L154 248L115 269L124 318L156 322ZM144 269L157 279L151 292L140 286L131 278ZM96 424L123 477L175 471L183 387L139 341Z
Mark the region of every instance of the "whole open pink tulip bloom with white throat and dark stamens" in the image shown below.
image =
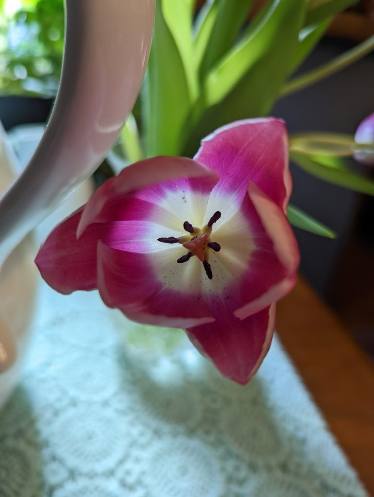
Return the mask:
M283 121L234 122L194 160L155 157L106 181L36 263L61 293L98 289L131 320L183 328L246 384L269 350L275 302L296 280L291 188Z

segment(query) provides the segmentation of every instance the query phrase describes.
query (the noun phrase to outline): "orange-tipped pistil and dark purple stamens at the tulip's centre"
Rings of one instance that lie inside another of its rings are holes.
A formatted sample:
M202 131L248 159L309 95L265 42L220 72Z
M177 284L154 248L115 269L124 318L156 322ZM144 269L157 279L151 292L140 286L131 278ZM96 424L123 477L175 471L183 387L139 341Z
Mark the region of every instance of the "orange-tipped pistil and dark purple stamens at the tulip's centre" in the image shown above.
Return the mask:
M165 244L182 244L188 252L185 255L182 255L182 257L179 257L176 262L178 262L178 264L187 262L191 257L196 255L196 257L203 263L208 278L212 279L213 273L211 265L209 264L210 249L214 252L219 252L221 250L220 244L211 240L212 226L220 219L220 217L221 212L215 212L210 218L208 224L203 228L197 228L192 226L192 224L188 221L185 221L183 223L183 229L187 231L189 235L184 235L179 238L158 238L157 240Z

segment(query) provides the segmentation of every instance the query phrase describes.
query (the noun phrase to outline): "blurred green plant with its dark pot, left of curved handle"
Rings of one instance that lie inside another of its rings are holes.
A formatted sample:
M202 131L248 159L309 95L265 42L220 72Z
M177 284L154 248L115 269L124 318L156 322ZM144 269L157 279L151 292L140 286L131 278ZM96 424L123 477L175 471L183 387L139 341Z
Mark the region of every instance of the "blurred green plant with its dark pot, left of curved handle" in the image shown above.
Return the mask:
M45 122L64 48L63 0L0 2L0 109L5 129Z

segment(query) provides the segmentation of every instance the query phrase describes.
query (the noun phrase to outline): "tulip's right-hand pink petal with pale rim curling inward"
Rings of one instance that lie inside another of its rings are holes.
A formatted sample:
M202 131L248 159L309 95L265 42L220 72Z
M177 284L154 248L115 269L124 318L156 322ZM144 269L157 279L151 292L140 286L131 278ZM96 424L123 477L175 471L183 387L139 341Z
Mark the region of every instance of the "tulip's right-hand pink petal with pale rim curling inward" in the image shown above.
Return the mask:
M249 218L257 247L240 281L242 304L234 311L245 319L286 295L296 283L299 249L283 211L254 183L242 209Z

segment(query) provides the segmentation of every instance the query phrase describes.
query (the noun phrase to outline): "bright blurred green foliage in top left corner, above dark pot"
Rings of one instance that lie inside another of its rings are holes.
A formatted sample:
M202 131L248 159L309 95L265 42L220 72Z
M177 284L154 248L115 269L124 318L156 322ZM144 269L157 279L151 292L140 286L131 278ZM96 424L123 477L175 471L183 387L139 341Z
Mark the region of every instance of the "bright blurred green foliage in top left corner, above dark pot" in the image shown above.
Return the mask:
M1 94L56 94L64 29L63 0L0 0Z

